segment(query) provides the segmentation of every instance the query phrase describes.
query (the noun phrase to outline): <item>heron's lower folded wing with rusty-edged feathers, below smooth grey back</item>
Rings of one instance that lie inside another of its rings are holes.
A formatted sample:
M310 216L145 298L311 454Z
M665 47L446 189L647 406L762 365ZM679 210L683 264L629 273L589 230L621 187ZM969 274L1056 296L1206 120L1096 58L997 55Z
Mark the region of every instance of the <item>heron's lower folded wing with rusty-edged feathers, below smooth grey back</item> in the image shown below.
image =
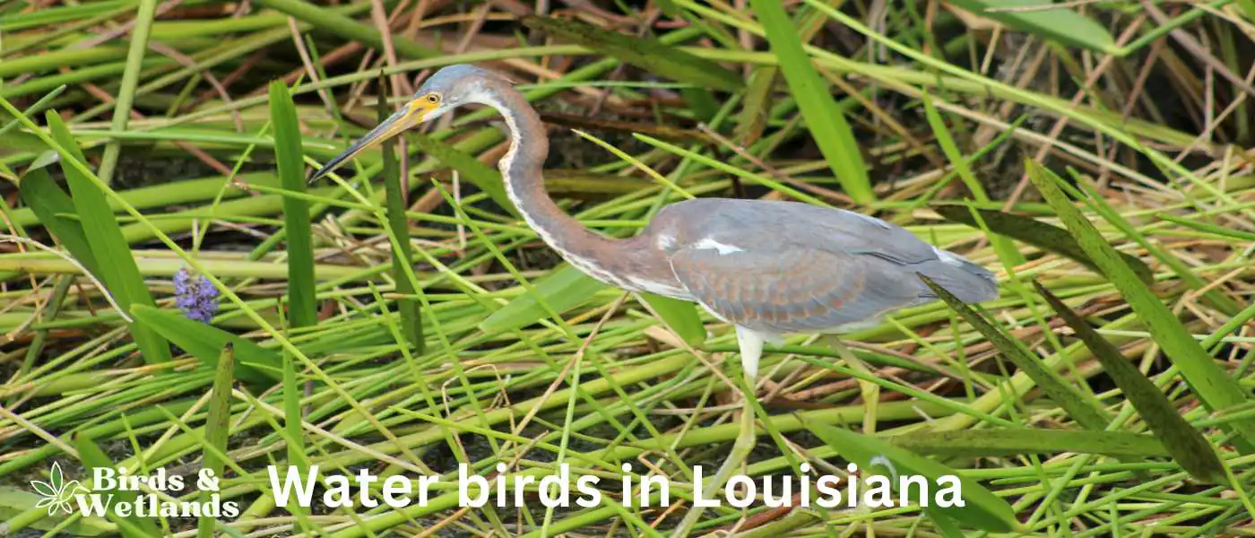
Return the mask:
M894 262L783 245L768 251L681 248L671 271L724 321L772 334L818 332L875 320L926 290Z

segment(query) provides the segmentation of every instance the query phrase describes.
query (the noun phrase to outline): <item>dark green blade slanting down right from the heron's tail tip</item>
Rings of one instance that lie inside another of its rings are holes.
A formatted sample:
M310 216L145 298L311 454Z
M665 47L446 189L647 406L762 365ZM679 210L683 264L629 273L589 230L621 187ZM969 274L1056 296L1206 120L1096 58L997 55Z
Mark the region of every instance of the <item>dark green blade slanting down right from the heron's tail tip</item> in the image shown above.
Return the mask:
M1042 389L1042 391L1050 396L1050 400L1063 408L1063 410L1068 413L1068 416L1072 416L1077 424L1081 424L1082 428L1089 430L1103 430L1107 428L1107 424L1111 423L1111 418L1108 418L1102 409L1094 405L1093 400L1073 389L1054 371L1047 370L1042 366L1042 361L1022 347L1017 340L1007 336L999 327L995 327L989 321L985 321L980 314L976 314L976 311L970 306L965 305L954 295L950 295L950 292L944 287L937 286L936 282L924 275L920 275L920 278L924 283L929 285L929 287L932 288L932 291L936 292L951 310L959 312L964 320L984 335L985 340L989 340L989 342L998 349L999 354L1014 362L1015 366L1024 372L1024 375L1028 375L1028 377L1032 379L1033 382Z

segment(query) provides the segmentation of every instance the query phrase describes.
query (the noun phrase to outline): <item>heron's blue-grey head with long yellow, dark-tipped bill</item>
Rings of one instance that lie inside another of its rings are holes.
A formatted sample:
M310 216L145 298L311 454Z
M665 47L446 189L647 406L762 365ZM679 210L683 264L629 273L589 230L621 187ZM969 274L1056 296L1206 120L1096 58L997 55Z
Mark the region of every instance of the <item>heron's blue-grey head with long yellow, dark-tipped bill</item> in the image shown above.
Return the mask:
M442 68L427 78L414 98L400 110L370 129L360 140L344 153L328 161L314 173L310 181L326 176L345 161L351 159L364 149L393 138L423 122L430 122L467 103L479 103L486 92L486 83L506 82L499 75L474 65L459 64Z

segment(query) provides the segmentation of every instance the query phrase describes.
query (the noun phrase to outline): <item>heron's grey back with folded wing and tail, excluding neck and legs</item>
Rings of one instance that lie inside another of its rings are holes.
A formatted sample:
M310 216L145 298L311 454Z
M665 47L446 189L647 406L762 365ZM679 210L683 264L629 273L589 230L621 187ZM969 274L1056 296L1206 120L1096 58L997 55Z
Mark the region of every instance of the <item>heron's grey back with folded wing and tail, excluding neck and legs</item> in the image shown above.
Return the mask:
M693 300L763 332L840 331L935 300L920 273L964 302L998 297L984 267L841 209L699 198L664 208L650 228Z

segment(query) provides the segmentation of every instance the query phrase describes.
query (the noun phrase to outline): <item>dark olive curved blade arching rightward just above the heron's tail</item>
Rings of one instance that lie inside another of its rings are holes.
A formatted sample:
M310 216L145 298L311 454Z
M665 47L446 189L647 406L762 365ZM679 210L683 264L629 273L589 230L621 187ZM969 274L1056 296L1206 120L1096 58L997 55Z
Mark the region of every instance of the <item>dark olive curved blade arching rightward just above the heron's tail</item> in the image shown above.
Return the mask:
M948 221L959 222L973 228L979 228L976 219L971 216L971 208L958 204L958 203L944 203L931 206L932 211L937 214L945 217ZM980 219L985 222L994 233L1010 237L1017 241L1023 241L1043 251L1054 252L1059 256L1065 256L1077 263L1089 267L1097 273L1102 273L1102 270L1089 258L1077 240L1072 237L1067 229L1047 224L1035 218L1024 217L1014 213L1004 213L996 209L975 209L980 214ZM1138 260L1136 256L1126 255L1119 252L1121 258L1128 263L1130 268L1137 273L1137 277L1146 283L1155 281L1155 272L1146 262Z

